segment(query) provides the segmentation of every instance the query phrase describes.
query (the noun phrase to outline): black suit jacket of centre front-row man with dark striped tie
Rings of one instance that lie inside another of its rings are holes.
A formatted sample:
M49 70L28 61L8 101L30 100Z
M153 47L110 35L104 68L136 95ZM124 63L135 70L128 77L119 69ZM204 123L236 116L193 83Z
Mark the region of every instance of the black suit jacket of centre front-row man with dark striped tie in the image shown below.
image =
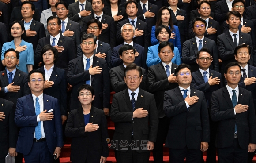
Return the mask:
M110 116L111 120L115 123L115 133L111 143L126 140L128 141L128 144L131 144L132 131L134 141L139 142L139 147L140 144L143 143L141 141L144 140L156 142L158 130L158 112L154 101L154 95L144 91L143 89L139 89L134 110L137 108L147 110L148 116L144 118L132 119L133 110L128 89L114 94ZM116 148L112 145L110 148L121 152L126 152L128 150L120 149L119 145L117 145ZM136 149L136 152L143 153L148 152L148 150L139 148Z

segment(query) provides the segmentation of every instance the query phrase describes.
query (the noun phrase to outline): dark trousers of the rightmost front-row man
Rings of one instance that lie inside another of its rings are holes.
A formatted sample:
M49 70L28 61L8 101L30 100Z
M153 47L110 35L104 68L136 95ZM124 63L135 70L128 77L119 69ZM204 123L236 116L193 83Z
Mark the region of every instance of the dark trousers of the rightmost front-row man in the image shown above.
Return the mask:
M228 148L218 148L218 163L247 163L248 149L241 149L238 139Z

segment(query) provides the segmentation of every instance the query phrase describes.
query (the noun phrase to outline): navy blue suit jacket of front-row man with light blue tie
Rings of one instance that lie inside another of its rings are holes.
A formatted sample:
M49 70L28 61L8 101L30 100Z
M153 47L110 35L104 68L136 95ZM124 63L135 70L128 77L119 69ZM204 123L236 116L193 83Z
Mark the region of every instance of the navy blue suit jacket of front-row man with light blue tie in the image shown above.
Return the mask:
M60 107L56 98L46 94L43 96L44 110L48 112L50 109L53 109L54 118L49 121L42 121L47 146L50 153L53 154L56 147L63 146ZM32 148L35 128L38 125L32 94L18 98L15 111L15 123L18 127L21 127L16 152L27 155Z

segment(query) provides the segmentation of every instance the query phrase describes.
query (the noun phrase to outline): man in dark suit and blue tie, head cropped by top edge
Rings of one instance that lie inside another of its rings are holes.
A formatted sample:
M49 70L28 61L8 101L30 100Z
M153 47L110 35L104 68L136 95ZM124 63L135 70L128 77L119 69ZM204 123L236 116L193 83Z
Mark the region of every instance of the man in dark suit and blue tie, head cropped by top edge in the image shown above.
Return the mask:
M91 3L88 0L78 0L68 6L68 18L78 22L81 26L83 18L89 16L92 12Z

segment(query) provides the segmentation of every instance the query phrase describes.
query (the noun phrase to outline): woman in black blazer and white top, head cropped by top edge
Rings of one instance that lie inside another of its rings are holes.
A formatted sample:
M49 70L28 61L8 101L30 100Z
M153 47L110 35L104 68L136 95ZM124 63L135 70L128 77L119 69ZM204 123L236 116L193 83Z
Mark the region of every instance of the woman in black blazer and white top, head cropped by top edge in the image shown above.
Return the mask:
M128 18L125 12L125 8L118 5L118 0L107 1L110 2L110 6L105 6L103 8L103 13L114 18L115 27L117 28L117 23Z

